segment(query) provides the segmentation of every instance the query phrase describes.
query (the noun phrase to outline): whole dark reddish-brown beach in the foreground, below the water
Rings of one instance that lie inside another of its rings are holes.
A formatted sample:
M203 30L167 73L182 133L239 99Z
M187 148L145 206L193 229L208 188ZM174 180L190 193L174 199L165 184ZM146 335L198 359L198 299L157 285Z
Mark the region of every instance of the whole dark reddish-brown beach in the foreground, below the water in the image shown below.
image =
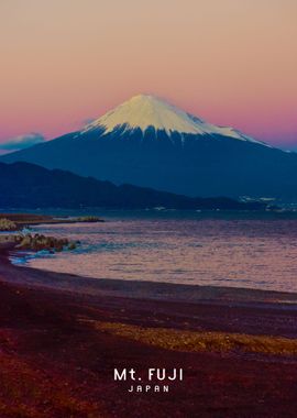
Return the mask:
M16 267L3 253L0 417L296 417L296 306L294 294ZM185 378L129 394L114 367Z

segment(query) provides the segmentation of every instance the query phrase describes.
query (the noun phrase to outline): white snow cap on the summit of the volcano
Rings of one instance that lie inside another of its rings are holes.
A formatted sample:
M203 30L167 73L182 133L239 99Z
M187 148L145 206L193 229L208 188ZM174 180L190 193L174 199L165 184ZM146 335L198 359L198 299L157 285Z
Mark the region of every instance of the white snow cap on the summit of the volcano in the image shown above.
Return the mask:
M119 127L139 128L143 132L148 127L153 127L156 131L165 131L168 135L173 132L194 135L223 135L242 141L257 142L232 128L210 124L152 95L133 96L130 100L86 125L81 133L98 128L102 128L106 133L109 133Z

